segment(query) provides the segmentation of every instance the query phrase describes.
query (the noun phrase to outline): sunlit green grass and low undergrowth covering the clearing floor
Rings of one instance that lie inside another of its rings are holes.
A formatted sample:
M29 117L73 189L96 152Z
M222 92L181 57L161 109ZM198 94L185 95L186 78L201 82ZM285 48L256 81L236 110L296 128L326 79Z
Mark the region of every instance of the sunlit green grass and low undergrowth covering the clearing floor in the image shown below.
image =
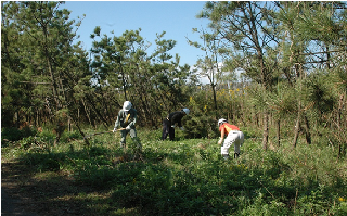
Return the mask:
M223 161L217 139L138 134L143 160L133 158L130 138L126 152L119 148L119 134L94 136L87 148L67 132L53 147L43 132L2 145L2 163L30 170L23 181L47 185L40 203L56 206L47 208L50 215L66 206L67 215L347 214L347 162L331 147L283 142L264 151L261 139L246 139L239 160Z

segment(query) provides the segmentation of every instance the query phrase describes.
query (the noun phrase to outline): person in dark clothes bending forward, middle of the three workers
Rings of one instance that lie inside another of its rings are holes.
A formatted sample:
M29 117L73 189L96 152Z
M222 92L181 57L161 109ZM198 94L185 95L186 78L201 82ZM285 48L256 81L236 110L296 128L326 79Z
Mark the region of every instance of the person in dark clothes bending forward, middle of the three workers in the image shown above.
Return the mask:
M181 130L184 130L182 126L182 117L189 115L189 109L182 109L181 111L176 111L170 113L164 120L163 120L163 135L162 140L165 140L167 136L169 136L170 140L174 141L175 139L175 125L177 124Z

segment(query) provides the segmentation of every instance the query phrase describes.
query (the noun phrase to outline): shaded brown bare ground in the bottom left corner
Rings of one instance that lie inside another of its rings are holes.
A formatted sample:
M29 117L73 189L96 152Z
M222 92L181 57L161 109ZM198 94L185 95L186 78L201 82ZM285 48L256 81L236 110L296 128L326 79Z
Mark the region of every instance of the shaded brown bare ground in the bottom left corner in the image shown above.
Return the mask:
M86 206L70 201L74 194L88 188L74 186L59 173L46 173L49 180L31 174L18 163L1 163L2 216L90 215Z

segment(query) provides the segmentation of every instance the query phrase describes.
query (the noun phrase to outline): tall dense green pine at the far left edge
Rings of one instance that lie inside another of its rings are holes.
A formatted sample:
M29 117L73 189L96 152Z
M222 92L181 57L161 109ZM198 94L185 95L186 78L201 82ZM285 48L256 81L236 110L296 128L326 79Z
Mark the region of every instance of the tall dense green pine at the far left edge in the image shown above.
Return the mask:
M61 2L53 1L3 3L2 30L7 34L1 45L8 51L2 61L4 94L11 96L10 86L13 82L17 84L18 92L26 89L28 105L16 103L14 110L30 107L37 116L35 119L48 113L48 119L56 125L56 143L68 118L78 124L77 118L72 116L74 111L69 109L70 104L76 103L75 86L88 75L83 51L72 45L76 36L73 33L75 21L69 21L70 12L60 10L60 5ZM13 37L16 39L13 40ZM13 75L16 78L9 82ZM30 115L30 110L27 109L24 114Z

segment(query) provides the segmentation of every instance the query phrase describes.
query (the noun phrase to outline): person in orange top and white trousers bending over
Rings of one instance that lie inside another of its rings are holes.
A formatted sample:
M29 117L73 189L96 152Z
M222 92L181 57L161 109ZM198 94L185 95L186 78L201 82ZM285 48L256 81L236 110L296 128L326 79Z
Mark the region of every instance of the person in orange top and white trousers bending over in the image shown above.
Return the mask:
M222 144L220 152L224 160L229 158L229 148L234 145L234 158L240 156L240 147L244 142L244 135L235 125L230 125L227 119L221 118L218 120L220 131L220 139L218 144ZM224 137L227 137L224 139ZM223 142L224 140L224 142Z

